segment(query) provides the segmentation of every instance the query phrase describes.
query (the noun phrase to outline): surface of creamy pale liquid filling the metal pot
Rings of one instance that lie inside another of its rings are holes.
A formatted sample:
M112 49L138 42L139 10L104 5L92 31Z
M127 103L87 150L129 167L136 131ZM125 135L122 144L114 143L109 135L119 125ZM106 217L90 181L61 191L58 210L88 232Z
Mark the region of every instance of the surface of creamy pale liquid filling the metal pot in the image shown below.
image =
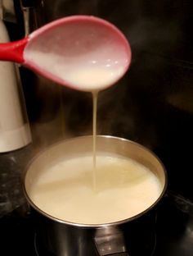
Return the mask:
M39 173L30 183L29 197L45 213L82 224L117 222L141 213L158 199L159 179L138 162L106 153L97 155L96 162L96 192L91 154Z

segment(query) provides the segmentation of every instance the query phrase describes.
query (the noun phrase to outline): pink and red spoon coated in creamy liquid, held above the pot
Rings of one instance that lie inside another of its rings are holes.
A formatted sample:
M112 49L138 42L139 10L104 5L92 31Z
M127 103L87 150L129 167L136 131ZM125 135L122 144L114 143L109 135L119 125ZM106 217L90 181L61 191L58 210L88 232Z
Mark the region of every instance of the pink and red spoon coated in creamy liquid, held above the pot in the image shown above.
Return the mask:
M0 43L0 60L18 62L58 84L83 91L114 85L128 70L131 49L122 32L94 16L69 16L25 39Z

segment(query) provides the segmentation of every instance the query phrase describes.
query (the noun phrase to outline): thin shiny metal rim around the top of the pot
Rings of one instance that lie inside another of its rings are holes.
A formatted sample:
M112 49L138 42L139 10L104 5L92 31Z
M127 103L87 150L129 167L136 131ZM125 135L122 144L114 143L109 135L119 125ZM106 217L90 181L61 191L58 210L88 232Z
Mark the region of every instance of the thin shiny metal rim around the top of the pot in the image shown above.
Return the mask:
M65 225L76 226L76 227L84 227L84 228L100 228L100 227L105 227L105 226L119 226L119 225L121 225L125 222L131 222L131 221L141 217L145 213L148 213L152 208L154 208L155 205L157 203L159 203L159 201L164 197L164 194L165 194L165 192L167 190L167 186L168 186L168 175L167 175L167 171L164 167L163 162L161 162L159 157L154 152L152 152L150 149L147 149L145 146L143 146L141 144L138 144L137 142L132 141L130 139L124 139L124 138L121 138L121 137L118 137L118 136L112 136L112 135L96 135L96 138L100 137L100 138L107 138L107 139L119 139L119 140L128 142L129 144L136 144L137 147L146 150L146 152L149 152L159 162L159 165L162 167L163 172L164 172L164 188L163 188L161 194L159 194L158 199L155 200L155 203L152 203L149 208L146 208L144 211L142 211L141 213L138 213L135 216L128 217L128 218L120 220L118 222L107 222L107 223L101 223L101 224L83 224L83 223L76 223L76 222L67 222L67 221L62 220L60 218L53 217L52 215L50 215L50 214L44 212L42 209L38 208L38 206L30 199L30 196L27 193L27 190L25 188L25 177L26 177L26 174L27 174L31 164L34 162L35 159L39 158L48 149L52 149L53 147L56 147L59 144L64 144L65 142L68 142L68 141L73 141L73 140L80 139L80 138L89 138L89 137L92 138L92 135L81 135L81 136L76 136L76 137L60 140L59 142L56 142L55 144L52 144L52 145L48 146L46 149L41 150L39 153L37 153L34 156L34 158L32 158L29 161L28 165L25 167L24 175L22 177L23 190L24 190L25 198L27 199L29 205L32 208L34 208L34 210L36 210L38 213L42 214L44 217L48 217L49 219L51 219L54 222L59 222L61 224L65 224Z

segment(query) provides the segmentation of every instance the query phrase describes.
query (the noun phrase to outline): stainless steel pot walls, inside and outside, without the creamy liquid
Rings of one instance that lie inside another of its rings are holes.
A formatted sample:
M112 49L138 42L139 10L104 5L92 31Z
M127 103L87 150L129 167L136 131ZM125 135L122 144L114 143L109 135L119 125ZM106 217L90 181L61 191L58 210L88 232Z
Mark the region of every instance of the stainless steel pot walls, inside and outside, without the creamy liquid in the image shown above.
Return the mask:
M159 177L162 192L150 208L137 216L119 222L87 225L65 222L39 209L30 199L28 187L33 177L43 168L73 157L77 153L92 152L92 136L66 139L40 153L29 164L24 177L25 196L31 205L37 227L37 244L47 255L96 256L96 255L150 255L155 243L155 206L163 198L167 187L167 174L163 164L150 150L128 139L97 136L96 150L119 153L140 162ZM100 211L100 209L99 209ZM40 254L41 255L41 254Z

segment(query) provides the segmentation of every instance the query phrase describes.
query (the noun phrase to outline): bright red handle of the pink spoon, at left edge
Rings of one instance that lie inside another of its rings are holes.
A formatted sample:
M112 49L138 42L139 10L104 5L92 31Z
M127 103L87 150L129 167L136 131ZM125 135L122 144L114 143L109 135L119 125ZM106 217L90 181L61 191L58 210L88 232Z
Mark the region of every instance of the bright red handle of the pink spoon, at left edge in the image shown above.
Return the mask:
M0 61L24 63L24 49L29 38L10 43L0 43Z

